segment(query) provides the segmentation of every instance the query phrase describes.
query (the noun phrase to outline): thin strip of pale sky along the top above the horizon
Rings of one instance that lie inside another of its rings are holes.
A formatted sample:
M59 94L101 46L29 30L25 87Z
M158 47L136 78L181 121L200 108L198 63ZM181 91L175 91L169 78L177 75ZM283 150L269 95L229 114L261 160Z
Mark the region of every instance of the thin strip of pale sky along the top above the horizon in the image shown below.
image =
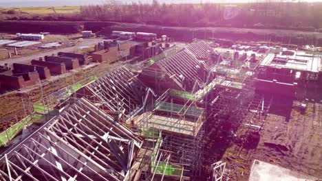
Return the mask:
M0 7L52 7L64 5L97 5L109 0L0 0ZM131 0L118 0L129 3ZM136 1L136 0L133 0ZM140 0L141 2L151 2L152 0ZM259 2L265 0L158 0L160 3L245 3ZM274 0L270 0L274 1ZM322 1L322 0L275 0L275 1ZM138 2L138 1L136 1Z

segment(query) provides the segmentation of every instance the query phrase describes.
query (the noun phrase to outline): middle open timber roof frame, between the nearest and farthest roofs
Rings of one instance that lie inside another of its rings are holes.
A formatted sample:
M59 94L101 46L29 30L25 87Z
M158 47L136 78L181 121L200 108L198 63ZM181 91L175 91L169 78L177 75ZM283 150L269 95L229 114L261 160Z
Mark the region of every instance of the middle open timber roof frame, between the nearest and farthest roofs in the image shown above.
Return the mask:
M118 114L125 123L142 111L149 95L156 96L127 67L114 69L76 92L76 97L94 101L99 108Z

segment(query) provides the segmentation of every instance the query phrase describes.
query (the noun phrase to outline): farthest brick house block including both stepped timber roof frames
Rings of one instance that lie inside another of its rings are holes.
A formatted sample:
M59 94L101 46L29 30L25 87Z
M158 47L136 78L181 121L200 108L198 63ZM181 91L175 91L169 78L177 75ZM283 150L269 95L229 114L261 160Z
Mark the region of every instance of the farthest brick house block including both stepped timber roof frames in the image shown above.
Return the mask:
M213 76L210 69L215 61L212 61L211 56L202 56L200 52L204 51L215 53L204 42L164 50L164 56L167 57L143 69L140 79L153 88L158 86L156 89L161 92L167 88L193 92L207 81L207 78L209 80L209 76ZM155 84L155 81L160 83Z

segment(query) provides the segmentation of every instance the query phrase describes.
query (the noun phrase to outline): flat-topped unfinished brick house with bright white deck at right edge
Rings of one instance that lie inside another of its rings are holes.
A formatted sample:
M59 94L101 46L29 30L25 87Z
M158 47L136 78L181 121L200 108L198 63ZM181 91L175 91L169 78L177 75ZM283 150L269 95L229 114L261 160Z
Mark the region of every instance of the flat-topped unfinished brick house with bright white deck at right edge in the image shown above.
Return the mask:
M321 68L318 57L269 54L259 64L256 89L294 97L297 88L321 81Z

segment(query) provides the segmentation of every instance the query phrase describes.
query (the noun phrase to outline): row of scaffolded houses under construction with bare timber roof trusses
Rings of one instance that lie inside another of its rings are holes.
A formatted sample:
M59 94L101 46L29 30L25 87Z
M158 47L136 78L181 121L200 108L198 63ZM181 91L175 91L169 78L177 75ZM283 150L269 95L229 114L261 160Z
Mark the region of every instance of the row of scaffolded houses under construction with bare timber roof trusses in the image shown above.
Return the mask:
M246 132L264 124L272 99L255 93L259 62L199 41L109 71L4 152L0 178L193 180L210 129L230 134L246 114ZM224 167L212 165L215 180Z

